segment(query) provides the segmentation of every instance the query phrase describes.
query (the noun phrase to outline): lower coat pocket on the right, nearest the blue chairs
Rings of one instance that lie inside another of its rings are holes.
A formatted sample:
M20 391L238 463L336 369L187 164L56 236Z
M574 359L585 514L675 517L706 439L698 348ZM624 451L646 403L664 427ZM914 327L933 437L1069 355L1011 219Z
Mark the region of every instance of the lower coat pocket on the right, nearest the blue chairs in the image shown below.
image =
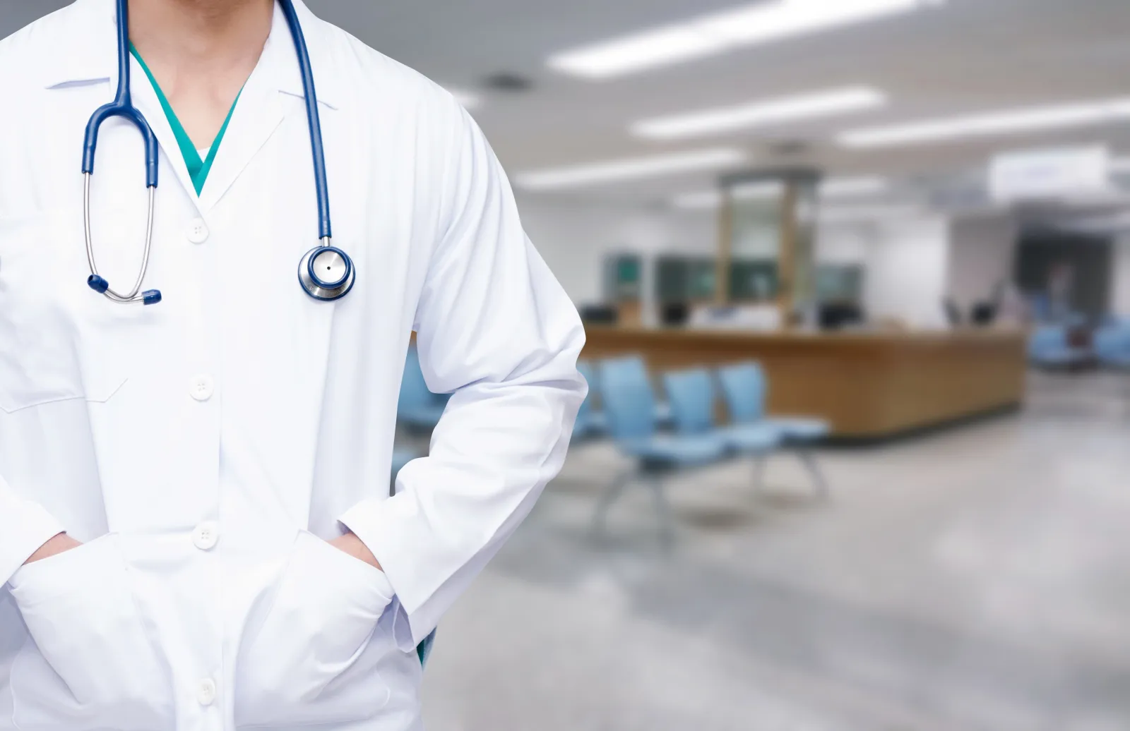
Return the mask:
M346 723L389 701L374 641L392 601L384 573L302 531L261 626L243 638L237 726Z

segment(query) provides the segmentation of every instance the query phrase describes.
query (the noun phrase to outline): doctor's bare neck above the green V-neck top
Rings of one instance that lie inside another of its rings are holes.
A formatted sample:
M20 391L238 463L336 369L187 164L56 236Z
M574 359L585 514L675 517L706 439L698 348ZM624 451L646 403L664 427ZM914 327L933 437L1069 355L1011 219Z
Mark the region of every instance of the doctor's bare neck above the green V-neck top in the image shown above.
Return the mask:
M273 11L275 0L130 0L130 41L150 64L254 68Z

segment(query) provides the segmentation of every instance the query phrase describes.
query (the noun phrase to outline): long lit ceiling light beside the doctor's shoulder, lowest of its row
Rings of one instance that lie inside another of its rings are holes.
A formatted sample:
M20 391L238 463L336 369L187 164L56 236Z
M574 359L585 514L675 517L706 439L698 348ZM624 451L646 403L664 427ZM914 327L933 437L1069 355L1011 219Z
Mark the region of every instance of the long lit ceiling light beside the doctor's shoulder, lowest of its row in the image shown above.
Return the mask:
M673 152L649 157L625 158L577 165L547 170L520 173L514 180L521 187L531 191L577 187L594 183L611 183L644 177L688 173L692 170L710 170L736 165L746 159L746 155L733 149L696 150L694 152Z

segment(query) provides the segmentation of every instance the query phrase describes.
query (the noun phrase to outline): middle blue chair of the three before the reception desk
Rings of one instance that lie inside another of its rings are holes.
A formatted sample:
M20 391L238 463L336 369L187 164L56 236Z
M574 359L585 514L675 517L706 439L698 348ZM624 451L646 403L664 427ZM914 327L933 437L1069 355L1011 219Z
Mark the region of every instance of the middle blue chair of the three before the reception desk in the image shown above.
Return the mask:
M728 451L762 458L781 443L779 430L760 423L719 428L714 423L714 380L710 371L694 369L663 376L671 404L675 430L684 435L711 435L721 440ZM755 487L759 488L760 469L755 470Z

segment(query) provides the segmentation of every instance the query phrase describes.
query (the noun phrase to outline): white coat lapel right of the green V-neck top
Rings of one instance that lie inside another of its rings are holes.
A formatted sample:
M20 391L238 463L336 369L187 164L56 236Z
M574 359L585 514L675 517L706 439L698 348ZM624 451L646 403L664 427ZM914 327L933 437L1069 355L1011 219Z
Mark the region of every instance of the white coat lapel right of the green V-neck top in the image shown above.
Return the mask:
M287 54L287 51L290 53ZM263 45L259 63L240 93L235 112L200 192L201 211L207 212L224 197L282 120L294 109L293 99L282 98L278 91L280 78L292 72L292 65L297 68L293 59L288 61L288 55L294 55L290 30L276 6L270 36Z

